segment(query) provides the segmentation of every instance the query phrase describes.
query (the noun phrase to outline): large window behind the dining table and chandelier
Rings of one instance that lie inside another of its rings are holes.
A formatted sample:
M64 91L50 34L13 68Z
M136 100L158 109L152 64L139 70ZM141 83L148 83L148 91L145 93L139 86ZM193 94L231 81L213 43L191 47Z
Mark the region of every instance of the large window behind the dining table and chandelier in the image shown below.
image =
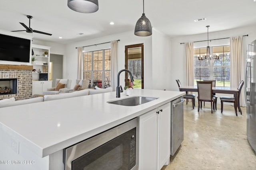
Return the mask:
M206 48L194 49L194 84L201 80L216 80L216 86L230 86L230 47L212 47L213 55L218 55L218 60L198 60L206 54Z

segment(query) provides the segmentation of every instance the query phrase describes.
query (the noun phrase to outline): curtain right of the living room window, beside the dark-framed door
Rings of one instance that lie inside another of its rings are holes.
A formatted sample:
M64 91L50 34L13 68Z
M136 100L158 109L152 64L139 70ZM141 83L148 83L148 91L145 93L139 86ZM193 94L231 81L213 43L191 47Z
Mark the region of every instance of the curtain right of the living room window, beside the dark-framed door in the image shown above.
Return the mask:
M116 91L117 86L117 41L111 41L111 58L110 58L110 86Z

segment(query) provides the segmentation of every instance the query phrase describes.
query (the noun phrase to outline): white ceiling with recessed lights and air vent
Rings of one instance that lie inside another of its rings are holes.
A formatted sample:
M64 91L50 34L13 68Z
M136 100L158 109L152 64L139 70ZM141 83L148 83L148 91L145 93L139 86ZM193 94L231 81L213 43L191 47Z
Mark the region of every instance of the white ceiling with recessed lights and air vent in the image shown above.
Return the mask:
M32 33L34 39L67 44L132 31L143 13L143 0L98 1L97 12L84 14L68 8L67 0L5 0L0 6L0 29L24 30L19 22L29 25L26 15L31 15L32 29L52 33ZM254 0L144 0L144 12L152 27L170 37L206 33L206 25L210 33L256 24Z

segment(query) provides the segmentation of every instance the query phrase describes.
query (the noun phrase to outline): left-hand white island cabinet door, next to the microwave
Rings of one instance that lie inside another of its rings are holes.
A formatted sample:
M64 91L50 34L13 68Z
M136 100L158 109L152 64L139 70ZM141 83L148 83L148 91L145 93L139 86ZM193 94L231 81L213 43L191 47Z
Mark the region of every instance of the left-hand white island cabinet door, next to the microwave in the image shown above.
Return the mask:
M157 109L139 117L139 170L157 168Z

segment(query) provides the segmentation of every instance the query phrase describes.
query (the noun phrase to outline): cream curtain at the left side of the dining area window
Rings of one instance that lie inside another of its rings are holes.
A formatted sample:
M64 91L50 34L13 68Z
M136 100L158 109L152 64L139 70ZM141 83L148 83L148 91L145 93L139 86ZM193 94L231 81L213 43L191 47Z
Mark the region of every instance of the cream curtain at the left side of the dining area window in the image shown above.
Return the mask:
M194 43L185 43L185 78L188 86L194 86Z

